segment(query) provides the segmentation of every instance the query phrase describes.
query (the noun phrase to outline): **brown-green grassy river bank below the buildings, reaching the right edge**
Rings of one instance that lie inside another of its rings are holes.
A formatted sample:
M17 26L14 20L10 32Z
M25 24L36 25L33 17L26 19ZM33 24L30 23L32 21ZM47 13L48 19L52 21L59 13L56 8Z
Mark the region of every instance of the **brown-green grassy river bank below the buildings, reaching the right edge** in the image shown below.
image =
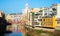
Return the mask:
M54 30L54 32L50 32L28 28L27 36L60 36L60 30Z

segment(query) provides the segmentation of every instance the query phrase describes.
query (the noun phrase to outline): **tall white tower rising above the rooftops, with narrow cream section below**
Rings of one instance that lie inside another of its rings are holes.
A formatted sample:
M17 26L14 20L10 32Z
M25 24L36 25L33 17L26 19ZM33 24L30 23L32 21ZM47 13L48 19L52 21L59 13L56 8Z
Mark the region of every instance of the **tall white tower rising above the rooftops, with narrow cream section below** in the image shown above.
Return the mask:
M25 8L22 10L22 14L26 18L26 25L29 24L29 13L30 13L30 8L29 8L28 3L26 3Z

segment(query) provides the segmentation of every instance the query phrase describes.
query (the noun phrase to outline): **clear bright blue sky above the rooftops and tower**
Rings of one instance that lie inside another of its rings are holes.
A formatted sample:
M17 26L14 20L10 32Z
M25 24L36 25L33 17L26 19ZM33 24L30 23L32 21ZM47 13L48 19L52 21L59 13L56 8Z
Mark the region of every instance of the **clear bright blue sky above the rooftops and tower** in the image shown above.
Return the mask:
M0 11L5 14L22 13L26 2L30 8L50 7L51 4L60 4L60 0L0 0Z

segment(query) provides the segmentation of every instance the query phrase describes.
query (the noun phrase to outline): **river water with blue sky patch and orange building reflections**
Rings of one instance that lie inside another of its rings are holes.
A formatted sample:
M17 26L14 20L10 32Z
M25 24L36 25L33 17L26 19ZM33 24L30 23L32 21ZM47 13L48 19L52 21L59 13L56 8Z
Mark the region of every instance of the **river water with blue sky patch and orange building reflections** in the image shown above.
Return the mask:
M7 33L5 36L25 36L26 35L26 28L22 25L17 25L12 27L12 33Z

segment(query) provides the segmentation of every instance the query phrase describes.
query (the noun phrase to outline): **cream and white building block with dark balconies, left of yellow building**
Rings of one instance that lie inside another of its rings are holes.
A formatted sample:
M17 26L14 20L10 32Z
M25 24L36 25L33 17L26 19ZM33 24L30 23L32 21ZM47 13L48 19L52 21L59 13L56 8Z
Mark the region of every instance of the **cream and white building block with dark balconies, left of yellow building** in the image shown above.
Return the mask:
M40 27L42 24L42 17L47 16L47 8L33 8L29 13L29 25Z

